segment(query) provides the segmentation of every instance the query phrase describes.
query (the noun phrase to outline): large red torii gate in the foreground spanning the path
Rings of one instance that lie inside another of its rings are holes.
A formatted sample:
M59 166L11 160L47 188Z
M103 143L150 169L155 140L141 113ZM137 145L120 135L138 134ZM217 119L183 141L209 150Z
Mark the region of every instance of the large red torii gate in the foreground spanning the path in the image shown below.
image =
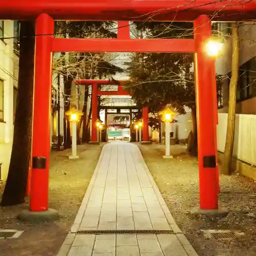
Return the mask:
M204 43L211 20L251 20L255 11L255 1L247 0L1 1L0 19L36 19L30 211L48 210L52 53L65 51L195 53L200 209L218 210L215 59L206 55ZM129 24L120 22L117 39L54 38L54 19L191 21L195 36L130 39Z

